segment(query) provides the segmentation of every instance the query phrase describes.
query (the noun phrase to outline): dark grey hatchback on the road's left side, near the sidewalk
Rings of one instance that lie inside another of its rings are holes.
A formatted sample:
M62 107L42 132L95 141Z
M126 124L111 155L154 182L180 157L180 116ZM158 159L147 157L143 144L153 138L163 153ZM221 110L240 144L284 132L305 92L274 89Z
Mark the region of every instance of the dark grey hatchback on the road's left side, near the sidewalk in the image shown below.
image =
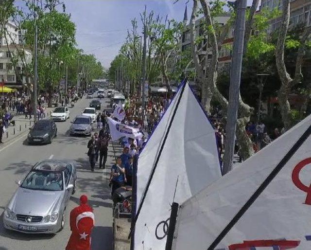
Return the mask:
M52 120L37 121L30 128L27 140L28 143L52 143L54 137L57 136L57 127Z

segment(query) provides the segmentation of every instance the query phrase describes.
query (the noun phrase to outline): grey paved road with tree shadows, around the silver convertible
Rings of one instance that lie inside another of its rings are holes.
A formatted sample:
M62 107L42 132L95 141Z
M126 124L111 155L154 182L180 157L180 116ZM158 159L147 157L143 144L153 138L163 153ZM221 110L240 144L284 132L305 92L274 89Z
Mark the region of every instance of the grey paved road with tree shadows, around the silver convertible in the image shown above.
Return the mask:
M88 107L89 99L79 101L70 108L70 119ZM102 109L108 105L108 99L102 99ZM72 208L79 203L79 197L86 194L94 208L95 228L92 235L92 250L112 249L112 202L108 187L109 170L98 169L90 172L86 155L86 144L89 138L69 137L69 120L57 123L58 135L48 145L27 145L26 135L17 141L13 140L0 147L0 250L64 250L69 239L69 220L65 229L56 235L37 235L12 232L3 228L2 216L5 206L15 192L15 180L21 179L37 161L45 159L70 159L78 163L77 192L71 196L67 207L67 218ZM94 125L96 128L96 125ZM121 149L116 148L117 154ZM113 161L113 150L110 145L107 166Z

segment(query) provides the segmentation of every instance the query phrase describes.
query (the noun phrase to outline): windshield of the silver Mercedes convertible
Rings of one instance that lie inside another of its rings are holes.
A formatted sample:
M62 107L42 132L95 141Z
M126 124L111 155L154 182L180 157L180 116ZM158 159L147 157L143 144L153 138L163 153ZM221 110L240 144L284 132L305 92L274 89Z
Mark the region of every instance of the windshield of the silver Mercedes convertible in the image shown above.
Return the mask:
M24 179L21 187L33 190L61 191L63 190L62 172L31 171Z

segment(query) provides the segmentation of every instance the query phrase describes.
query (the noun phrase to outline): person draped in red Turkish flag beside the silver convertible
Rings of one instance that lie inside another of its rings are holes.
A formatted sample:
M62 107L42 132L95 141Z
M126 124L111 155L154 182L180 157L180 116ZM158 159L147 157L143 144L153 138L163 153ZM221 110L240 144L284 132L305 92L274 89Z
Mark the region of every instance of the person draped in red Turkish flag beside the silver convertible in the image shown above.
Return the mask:
M66 250L90 250L94 223L93 209L87 204L87 196L83 195L80 206L70 212L71 235Z

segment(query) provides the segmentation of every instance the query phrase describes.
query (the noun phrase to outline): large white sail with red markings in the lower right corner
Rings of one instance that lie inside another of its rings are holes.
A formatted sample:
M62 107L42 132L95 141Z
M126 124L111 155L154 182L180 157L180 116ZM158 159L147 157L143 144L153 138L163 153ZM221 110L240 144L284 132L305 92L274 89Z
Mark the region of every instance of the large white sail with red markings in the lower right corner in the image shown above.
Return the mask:
M173 249L310 250L310 125L311 116L183 203Z

